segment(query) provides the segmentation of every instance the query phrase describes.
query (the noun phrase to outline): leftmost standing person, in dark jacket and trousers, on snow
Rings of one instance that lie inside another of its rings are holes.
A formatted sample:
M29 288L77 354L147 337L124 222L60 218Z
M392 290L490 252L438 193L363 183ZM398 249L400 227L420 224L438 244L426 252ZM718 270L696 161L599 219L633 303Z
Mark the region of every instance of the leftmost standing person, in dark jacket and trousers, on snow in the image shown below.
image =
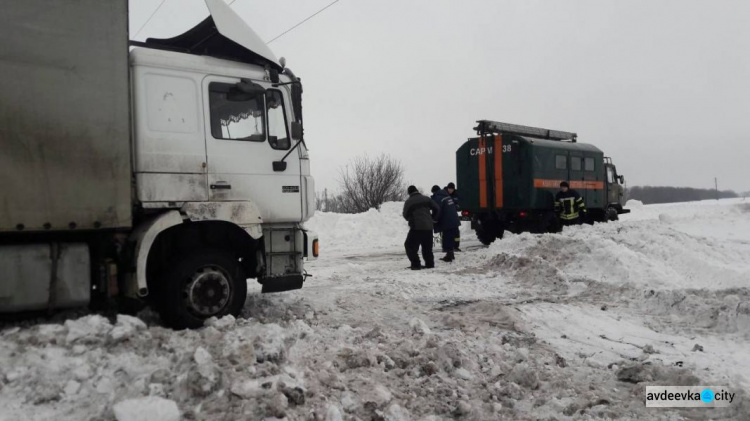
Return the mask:
M419 247L422 247L424 267L435 267L435 257L432 254L433 221L440 217L440 208L429 197L420 194L417 188L409 186L409 198L404 203L404 219L409 221L409 234L406 236L404 248L406 256L411 262L411 270L422 269L419 261Z

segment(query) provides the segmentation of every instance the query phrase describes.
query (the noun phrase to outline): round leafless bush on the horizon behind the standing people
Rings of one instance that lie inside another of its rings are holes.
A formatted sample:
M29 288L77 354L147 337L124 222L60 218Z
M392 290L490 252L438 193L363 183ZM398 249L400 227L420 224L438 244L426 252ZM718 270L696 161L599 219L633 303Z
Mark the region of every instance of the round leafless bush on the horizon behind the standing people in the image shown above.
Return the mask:
M345 213L379 209L384 202L406 198L404 167L389 155L367 155L352 159L339 172L341 206Z

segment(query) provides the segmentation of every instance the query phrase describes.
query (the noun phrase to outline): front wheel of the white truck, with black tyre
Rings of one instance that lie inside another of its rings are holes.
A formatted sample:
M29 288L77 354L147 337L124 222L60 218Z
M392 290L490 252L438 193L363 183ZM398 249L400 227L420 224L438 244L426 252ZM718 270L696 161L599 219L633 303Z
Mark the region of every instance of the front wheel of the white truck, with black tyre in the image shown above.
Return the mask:
M247 298L247 277L237 259L208 250L179 257L164 270L157 309L175 329L203 326L209 317L239 315Z

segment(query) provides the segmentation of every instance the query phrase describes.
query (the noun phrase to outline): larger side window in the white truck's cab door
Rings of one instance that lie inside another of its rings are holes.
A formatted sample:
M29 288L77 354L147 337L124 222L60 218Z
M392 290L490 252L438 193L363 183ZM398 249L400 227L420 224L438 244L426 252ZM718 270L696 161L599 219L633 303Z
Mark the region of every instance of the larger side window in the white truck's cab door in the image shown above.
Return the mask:
M228 83L209 85L211 134L216 139L264 142L263 96L250 97Z

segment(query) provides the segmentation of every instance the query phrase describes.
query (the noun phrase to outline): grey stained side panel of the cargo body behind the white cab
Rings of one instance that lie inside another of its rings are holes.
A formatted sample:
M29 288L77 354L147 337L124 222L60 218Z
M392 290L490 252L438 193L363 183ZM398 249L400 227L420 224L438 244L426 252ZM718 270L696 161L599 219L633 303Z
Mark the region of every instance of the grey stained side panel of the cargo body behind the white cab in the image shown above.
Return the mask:
M0 232L129 227L127 0L0 10Z

